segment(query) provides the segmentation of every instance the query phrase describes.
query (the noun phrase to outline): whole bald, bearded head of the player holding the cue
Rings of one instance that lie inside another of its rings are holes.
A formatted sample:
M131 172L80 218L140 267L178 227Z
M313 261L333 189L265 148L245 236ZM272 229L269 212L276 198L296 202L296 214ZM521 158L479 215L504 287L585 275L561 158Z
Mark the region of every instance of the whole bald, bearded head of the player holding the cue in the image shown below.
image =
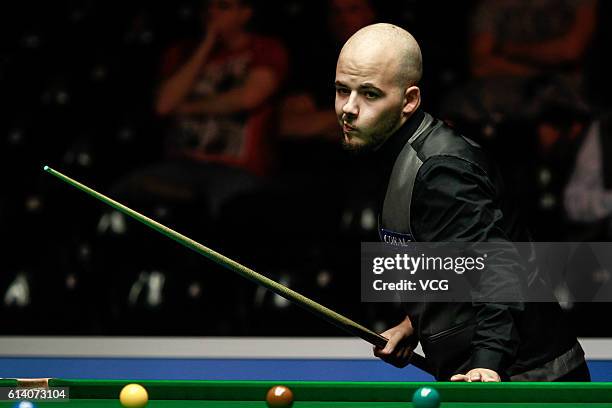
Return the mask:
M344 146L376 150L419 108L421 50L406 30L374 24L342 47L336 65L336 116Z

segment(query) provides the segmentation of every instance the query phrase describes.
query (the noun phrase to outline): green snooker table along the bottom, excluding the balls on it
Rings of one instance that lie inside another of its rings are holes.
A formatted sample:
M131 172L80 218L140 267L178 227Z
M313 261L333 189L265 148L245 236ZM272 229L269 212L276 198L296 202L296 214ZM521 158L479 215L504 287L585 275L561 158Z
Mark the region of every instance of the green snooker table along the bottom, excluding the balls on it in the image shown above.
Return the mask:
M117 407L119 391L137 382L149 392L150 408L244 407L265 408L270 381L126 381L50 379L49 387L67 387L70 400L38 402L38 407ZM17 386L15 379L0 387ZM353 407L407 408L421 386L436 388L446 408L612 407L612 383L422 383L286 381L295 395L295 408ZM2 401L0 407L14 402Z

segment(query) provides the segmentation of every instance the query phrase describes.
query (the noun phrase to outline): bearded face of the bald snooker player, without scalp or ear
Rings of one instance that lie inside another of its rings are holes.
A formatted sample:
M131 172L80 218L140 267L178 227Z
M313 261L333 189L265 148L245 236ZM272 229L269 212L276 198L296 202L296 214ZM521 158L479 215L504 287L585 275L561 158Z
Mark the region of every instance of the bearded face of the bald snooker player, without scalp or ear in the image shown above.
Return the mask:
M381 57L352 52L338 59L336 115L348 150L375 150L403 123L405 89L396 64Z

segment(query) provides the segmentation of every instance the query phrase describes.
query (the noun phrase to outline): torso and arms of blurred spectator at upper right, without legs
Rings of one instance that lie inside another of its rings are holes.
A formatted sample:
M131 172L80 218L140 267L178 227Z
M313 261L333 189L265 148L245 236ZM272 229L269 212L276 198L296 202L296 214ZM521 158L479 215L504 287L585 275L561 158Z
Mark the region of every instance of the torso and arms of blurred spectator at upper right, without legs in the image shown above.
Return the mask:
M472 21L473 80L444 102L445 117L468 122L536 118L542 99L583 94L583 56L596 0L482 0Z

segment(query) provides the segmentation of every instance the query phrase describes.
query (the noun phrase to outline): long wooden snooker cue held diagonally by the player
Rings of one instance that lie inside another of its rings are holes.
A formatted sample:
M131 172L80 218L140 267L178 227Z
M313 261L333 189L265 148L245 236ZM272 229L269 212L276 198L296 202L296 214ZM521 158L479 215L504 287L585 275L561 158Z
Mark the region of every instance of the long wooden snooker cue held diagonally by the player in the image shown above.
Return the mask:
M123 214L126 214L134 218L136 221L139 221L143 223L144 225L156 230L157 232L162 233L163 235L178 242L179 244L199 253L200 255L204 255L205 257L218 263L219 265L224 266L261 286L264 286L265 288L276 293L277 295L282 296L285 299L292 302L293 304L300 306L306 309L307 311L327 320L328 322L334 324L340 329L354 336L360 337L363 340L367 341L368 343L376 347L379 347L379 348L384 348L385 345L387 344L387 339L381 336L380 334L315 302L314 300L307 298L306 296L294 291L293 289L290 289L284 285L281 285L280 283L275 282L274 280L255 272L254 270L234 261L233 259L230 259L226 257L225 255L222 255L214 251L213 249L210 249L200 244L199 242L196 242L192 240L191 238L174 231L173 229L168 228L165 225L145 215L142 215L137 211L132 210L131 208L119 203L118 201L115 201L112 198L109 198L101 193L98 193L97 191L87 187L86 185L81 184L78 181L60 173L59 171L53 170L49 166L44 166L43 169L44 171L50 173L51 175L70 184L71 186L84 191L85 193L104 202L105 204L108 204L109 206L115 208L116 210L122 212ZM410 363L414 365L415 367L431 374L431 370L429 369L427 360L423 356L417 353L412 353L412 356L410 358Z

